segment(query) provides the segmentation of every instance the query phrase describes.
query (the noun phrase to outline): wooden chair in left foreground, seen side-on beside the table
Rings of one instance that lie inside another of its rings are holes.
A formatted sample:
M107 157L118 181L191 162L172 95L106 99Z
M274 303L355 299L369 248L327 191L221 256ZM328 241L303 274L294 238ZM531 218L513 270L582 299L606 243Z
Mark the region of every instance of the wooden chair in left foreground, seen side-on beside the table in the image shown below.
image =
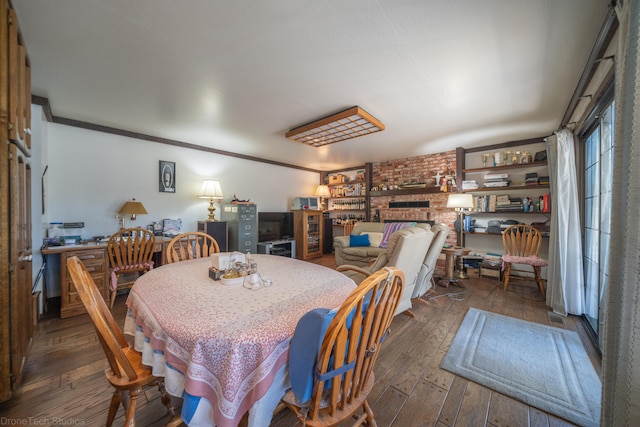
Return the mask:
M124 425L135 426L136 401L143 388L151 386L157 386L160 390L161 401L172 417L169 424L179 425L180 417L176 417L171 398L164 389L164 380L153 376L151 369L142 364L142 355L129 346L82 261L77 256L69 258L67 269L107 356L105 375L115 389L107 415L107 427L113 423L121 404L126 415Z

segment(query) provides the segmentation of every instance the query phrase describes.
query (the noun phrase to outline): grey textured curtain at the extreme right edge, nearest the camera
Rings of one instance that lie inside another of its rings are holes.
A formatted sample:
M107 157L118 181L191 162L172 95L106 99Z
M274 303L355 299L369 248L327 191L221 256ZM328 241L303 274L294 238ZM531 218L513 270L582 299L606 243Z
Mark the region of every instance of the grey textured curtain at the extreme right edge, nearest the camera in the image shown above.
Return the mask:
M640 0L618 0L616 123L603 426L640 422Z

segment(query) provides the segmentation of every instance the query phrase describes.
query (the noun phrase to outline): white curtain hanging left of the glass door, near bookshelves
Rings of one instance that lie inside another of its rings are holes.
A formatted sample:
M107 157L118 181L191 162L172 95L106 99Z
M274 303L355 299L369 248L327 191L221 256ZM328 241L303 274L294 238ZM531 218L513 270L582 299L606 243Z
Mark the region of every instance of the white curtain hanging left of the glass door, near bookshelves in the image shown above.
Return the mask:
M551 232L547 268L547 305L556 313L584 313L582 234L573 134L547 138L551 182Z

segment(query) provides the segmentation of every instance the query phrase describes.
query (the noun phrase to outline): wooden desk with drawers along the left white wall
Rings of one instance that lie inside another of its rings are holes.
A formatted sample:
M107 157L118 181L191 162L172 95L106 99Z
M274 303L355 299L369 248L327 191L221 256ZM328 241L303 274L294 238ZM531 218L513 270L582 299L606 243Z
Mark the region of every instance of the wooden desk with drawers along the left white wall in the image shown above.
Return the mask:
M163 236L156 236L154 252L155 265L159 266L166 262L166 249L171 239ZM72 256L77 256L87 268L96 286L100 289L100 294L107 302L109 301L109 257L107 256L107 244L89 242L81 245L50 246L42 249L43 255L60 255L60 317L71 317L86 313L87 311L80 301L78 291L67 274L67 260ZM46 304L46 294L43 295Z

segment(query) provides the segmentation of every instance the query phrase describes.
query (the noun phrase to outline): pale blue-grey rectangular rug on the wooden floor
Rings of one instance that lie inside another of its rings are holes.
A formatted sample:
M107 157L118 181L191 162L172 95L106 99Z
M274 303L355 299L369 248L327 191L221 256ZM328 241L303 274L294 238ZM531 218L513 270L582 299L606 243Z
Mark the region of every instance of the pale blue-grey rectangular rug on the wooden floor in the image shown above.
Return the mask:
M578 334L470 308L442 368L580 426L598 426L601 383Z

